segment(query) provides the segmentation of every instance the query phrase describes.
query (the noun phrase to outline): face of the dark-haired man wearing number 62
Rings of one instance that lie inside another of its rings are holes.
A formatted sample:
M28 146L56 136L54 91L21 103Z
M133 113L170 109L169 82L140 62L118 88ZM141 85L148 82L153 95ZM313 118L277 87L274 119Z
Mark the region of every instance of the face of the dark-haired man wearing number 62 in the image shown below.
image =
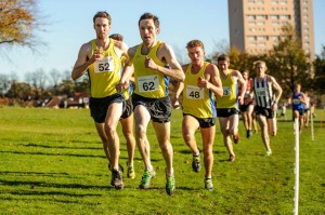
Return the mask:
M139 25L140 36L144 43L152 43L156 40L158 28L156 28L153 19L143 19Z

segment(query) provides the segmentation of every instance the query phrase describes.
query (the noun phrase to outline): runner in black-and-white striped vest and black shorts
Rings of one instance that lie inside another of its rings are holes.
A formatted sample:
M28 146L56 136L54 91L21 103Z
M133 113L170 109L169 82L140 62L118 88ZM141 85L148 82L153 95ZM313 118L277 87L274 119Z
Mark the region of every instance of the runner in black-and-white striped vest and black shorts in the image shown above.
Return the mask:
M268 69L265 62L255 62L253 69L256 70L256 77L251 82L251 90L255 94L256 116L261 127L262 140L266 148L265 156L271 156L272 149L269 133L272 134L273 132L274 111L277 110L282 88L274 77L265 73ZM273 89L275 90L274 96Z

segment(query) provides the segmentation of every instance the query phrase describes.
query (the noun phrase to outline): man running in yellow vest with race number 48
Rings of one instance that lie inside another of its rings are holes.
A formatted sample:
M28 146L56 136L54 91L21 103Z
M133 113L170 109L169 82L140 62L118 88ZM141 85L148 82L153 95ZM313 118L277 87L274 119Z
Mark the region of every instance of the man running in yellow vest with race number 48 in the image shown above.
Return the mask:
M190 64L183 65L185 80L178 83L173 105L178 104L182 93L183 138L193 153L192 169L200 171L199 150L196 144L195 132L200 130L203 139L205 188L213 190L213 142L216 133L214 95L222 96L222 86L219 70L216 65L205 62L205 46L199 40L191 40L186 44Z

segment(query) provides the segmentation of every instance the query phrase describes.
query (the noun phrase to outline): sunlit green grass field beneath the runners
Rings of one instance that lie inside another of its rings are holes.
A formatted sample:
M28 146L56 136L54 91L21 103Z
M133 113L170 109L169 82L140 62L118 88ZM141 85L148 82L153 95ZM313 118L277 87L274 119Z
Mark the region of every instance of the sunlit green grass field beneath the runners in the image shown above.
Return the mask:
M323 111L323 112L322 112ZM299 214L325 214L325 130L315 118L300 138ZM290 115L290 111L287 111ZM264 157L260 133L235 146L227 162L219 124L214 140L213 191L204 189L204 169L194 173L192 154L181 135L182 115L172 113L177 191L165 191L165 162L153 127L148 138L157 176L150 190L139 189L143 163L135 151L135 179L123 190L109 186L110 173L88 109L0 108L1 214L292 214L295 137L292 122L278 122ZM119 129L120 131L120 129ZM120 163L127 150L121 139ZM200 136L197 135L198 142ZM202 146L202 144L199 144ZM125 174L126 176L126 174Z

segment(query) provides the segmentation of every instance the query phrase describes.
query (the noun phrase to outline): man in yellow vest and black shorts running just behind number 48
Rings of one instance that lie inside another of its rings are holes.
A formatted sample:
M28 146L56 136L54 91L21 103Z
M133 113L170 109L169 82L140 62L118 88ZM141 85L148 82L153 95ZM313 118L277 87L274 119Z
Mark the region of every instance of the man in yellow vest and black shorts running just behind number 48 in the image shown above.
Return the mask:
M235 152L231 136L233 136L235 144L239 142L238 106L244 104L246 81L239 71L229 69L229 56L222 54L218 56L217 61L223 89L223 95L217 95L217 116L223 135L223 143L229 152L229 161L234 162ZM238 85L242 89L240 94L238 94Z

